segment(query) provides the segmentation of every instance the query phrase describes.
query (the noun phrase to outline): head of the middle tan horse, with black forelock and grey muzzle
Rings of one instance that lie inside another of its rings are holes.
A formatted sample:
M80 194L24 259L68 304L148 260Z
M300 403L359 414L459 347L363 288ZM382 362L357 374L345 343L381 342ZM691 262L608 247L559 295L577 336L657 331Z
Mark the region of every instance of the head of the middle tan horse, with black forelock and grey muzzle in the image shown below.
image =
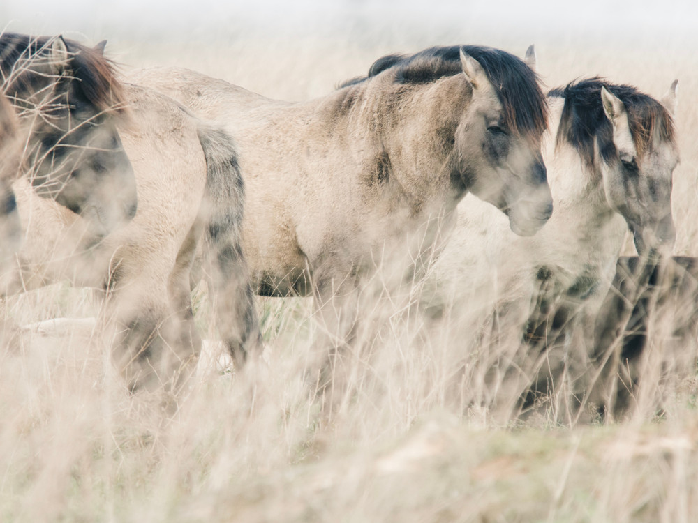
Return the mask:
M537 76L499 50L461 47L460 58L471 100L456 129L459 174L470 192L508 216L514 233L533 235L553 211L540 151L547 104Z

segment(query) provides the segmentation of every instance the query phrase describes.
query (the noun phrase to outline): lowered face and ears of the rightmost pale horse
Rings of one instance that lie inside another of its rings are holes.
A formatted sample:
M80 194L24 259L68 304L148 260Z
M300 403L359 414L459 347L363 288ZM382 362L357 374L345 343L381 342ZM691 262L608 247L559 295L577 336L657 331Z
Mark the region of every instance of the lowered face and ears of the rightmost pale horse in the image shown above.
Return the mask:
M632 88L605 85L601 100L611 123L600 149L604 190L623 215L639 255L670 254L676 239L671 218L671 177L678 164L671 114L676 84L658 102Z

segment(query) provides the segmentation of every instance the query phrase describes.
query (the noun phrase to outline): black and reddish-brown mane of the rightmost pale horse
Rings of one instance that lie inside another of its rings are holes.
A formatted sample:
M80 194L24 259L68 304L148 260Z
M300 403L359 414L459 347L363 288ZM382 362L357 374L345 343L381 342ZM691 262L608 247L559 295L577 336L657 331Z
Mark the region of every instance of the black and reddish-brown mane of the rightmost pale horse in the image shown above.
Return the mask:
M617 96L625 105L630 134L640 156L649 148L655 132L659 132L662 140L676 146L674 119L658 100L641 93L633 86L611 84L600 77L570 82L567 86L558 87L548 93L548 96L565 99L556 137L557 146L563 142L572 145L588 167L593 167L594 164L595 140L604 162L609 163L615 158L613 127L602 106L602 87Z

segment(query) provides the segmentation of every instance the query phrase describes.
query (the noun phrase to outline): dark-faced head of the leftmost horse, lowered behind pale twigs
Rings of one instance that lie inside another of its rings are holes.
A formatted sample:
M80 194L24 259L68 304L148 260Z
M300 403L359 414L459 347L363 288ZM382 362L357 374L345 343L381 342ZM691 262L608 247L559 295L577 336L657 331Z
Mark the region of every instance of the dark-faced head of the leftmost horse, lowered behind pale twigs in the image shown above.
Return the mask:
M133 218L136 186L121 146L121 84L102 45L61 36L0 35L2 89L15 105L22 173L38 195L82 215L101 238Z

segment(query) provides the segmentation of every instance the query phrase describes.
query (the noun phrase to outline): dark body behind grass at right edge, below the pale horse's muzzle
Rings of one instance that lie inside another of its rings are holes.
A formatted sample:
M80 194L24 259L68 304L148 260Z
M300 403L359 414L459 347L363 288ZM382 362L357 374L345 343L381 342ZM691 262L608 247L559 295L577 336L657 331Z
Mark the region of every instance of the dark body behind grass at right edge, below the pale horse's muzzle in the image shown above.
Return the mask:
M599 386L591 401L604 420L653 415L672 385L693 379L698 328L698 259L618 259L594 326Z

